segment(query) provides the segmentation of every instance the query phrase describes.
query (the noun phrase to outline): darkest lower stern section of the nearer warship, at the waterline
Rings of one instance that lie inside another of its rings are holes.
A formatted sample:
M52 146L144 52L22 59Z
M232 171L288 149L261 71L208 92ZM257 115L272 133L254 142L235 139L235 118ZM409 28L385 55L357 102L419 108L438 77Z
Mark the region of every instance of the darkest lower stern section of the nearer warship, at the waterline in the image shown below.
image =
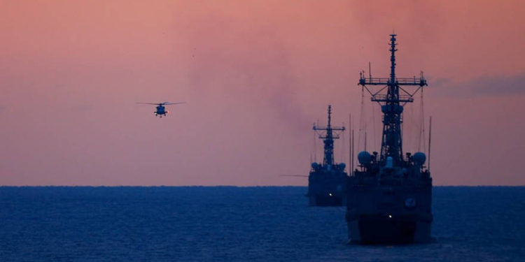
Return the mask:
M430 221L418 215L367 214L347 218L349 241L360 244L409 244L430 241Z

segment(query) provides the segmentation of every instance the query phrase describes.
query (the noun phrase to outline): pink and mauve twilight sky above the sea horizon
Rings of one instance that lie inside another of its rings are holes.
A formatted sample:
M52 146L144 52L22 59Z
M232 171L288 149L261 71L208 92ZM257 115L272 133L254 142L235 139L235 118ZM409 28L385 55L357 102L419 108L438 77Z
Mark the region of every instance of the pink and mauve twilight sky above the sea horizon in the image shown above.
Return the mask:
M0 185L306 185L379 151L359 72L424 72L435 185L524 185L524 1L0 1ZM153 105L169 105L155 117ZM363 101L363 107L361 106ZM361 109L363 108L363 109ZM416 152L421 101L405 108ZM361 117L362 116L362 117ZM363 120L359 120L362 118ZM361 123L361 124L359 124ZM423 138L421 138L423 140ZM349 134L335 160L349 162ZM428 144L428 142L426 142Z

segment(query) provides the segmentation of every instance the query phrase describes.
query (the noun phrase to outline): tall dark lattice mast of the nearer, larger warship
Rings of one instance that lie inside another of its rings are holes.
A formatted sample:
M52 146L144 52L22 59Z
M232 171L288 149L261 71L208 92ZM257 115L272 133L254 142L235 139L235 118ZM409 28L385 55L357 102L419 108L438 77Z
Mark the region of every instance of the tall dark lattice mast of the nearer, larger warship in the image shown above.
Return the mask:
M414 101L414 94L426 86L426 80L421 73L420 78L396 78L395 77L395 34L390 35L390 78L365 78L363 72L360 73L358 85L365 87L367 92L372 95L372 101L376 101L381 105L381 112L383 112L383 135L381 138L381 155L380 161L384 161L386 157L392 157L394 163L403 162L402 151L402 111L403 105L412 103ZM385 85L378 92L372 93L366 85ZM401 86L419 86L415 92L409 93L402 89ZM386 94L383 90L386 89ZM403 94L400 94L400 90ZM381 93L383 92L383 93Z

